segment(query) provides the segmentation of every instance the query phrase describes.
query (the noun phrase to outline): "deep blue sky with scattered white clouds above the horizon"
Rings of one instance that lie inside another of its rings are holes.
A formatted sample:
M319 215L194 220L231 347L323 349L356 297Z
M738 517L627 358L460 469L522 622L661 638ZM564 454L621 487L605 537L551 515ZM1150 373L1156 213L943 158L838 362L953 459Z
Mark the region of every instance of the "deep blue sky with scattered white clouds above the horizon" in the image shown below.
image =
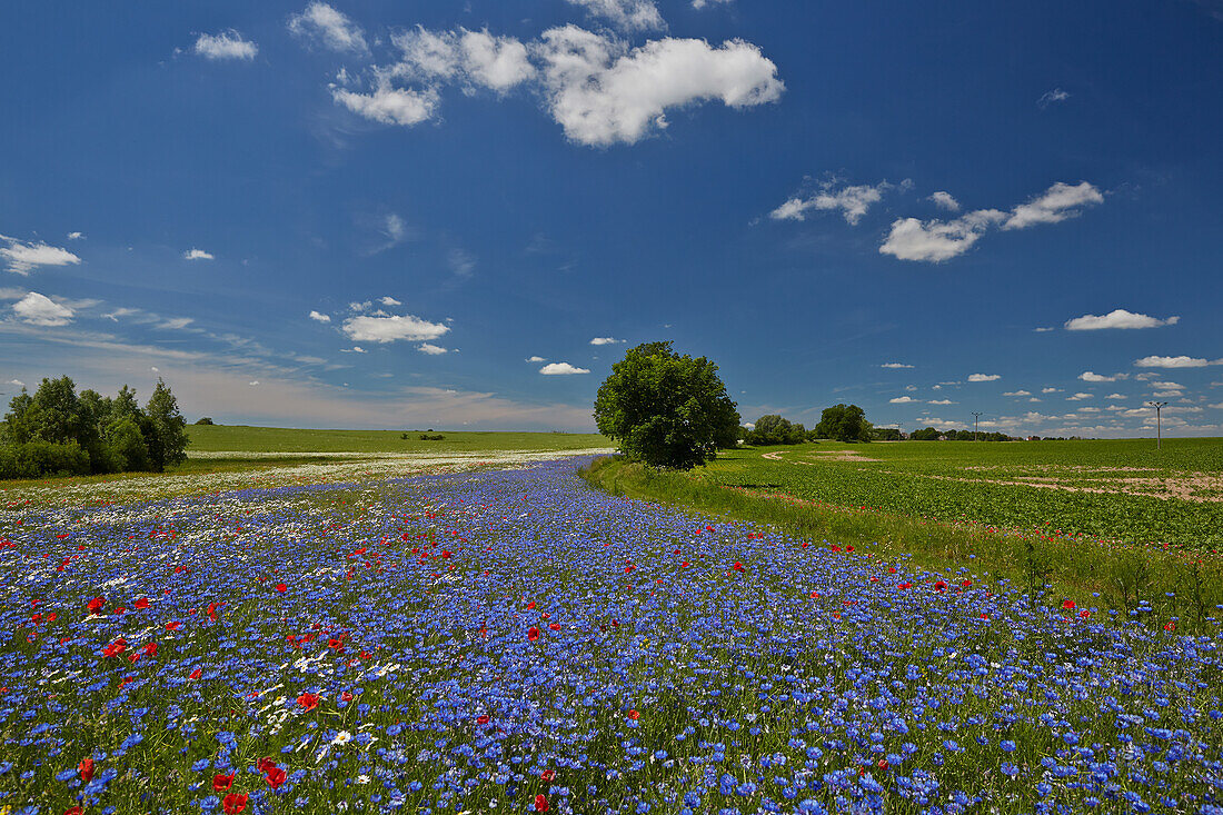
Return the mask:
M745 421L1223 436L1221 54L1206 0L9 4L0 389L588 430L669 339Z

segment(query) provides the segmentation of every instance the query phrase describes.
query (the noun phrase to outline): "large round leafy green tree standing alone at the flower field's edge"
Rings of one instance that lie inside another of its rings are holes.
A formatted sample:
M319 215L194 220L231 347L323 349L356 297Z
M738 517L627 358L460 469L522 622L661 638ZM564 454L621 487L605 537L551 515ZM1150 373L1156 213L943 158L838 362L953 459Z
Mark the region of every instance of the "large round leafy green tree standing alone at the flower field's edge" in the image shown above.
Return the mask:
M739 411L709 360L679 355L670 343L625 352L594 400L599 432L626 456L652 466L690 470L734 447Z

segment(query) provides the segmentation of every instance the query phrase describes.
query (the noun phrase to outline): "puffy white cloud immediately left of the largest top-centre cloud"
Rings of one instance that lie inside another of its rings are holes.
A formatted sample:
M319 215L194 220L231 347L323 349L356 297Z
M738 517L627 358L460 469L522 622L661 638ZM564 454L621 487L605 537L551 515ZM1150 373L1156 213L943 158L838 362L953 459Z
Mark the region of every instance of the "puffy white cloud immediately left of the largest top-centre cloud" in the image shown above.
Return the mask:
M389 71L427 82L461 81L504 93L536 76L527 47L514 37L487 31L433 32L423 27L395 34L401 61Z

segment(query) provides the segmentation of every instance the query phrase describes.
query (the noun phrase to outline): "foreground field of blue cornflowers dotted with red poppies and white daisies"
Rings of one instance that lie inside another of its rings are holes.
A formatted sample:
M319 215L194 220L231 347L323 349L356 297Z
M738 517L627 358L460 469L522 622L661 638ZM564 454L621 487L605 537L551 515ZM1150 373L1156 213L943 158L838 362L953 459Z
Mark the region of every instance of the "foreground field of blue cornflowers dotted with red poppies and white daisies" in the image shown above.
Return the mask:
M10 505L0 813L1223 805L1213 617L1035 602L583 461Z

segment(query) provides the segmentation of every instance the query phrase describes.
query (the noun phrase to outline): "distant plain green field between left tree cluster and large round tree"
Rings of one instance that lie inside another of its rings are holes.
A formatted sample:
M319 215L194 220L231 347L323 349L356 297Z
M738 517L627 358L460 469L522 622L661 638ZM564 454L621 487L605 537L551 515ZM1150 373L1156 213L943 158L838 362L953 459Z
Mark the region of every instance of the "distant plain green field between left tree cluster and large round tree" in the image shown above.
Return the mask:
M610 447L598 433L473 433L435 430L442 441L422 441L413 431L296 430L245 425L191 425L193 453L478 453L481 450L580 450ZM404 433L407 438L402 438Z

